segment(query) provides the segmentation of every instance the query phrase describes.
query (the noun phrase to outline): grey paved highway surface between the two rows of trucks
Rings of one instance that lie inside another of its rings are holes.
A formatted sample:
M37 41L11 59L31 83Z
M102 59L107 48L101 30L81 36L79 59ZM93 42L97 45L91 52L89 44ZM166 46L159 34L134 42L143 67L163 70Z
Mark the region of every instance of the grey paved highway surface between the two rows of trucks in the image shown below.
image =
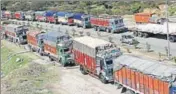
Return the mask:
M62 32L65 32L66 30L69 33L72 33L73 29L76 30L77 33L79 33L80 31L82 31L84 34L86 34L87 32L90 32L91 36L93 37L99 37L105 40L109 40L109 37L113 38L113 41L116 42L117 44L121 45L120 43L120 38L121 35L123 34L132 34L132 32L124 32L124 33L107 33L104 31L100 31L100 33L96 32L94 29L83 29L83 28L77 28L76 26L67 26L67 25L55 25L55 24L49 24L49 23L44 23L44 22L28 22L28 21L18 21L18 22L24 22L25 24L30 23L33 25L36 24L40 24L42 26L42 28L44 30L58 30L59 28ZM128 19L124 19L124 23L126 25L126 27L131 27L134 25L134 22L128 20ZM98 36L100 35L100 36ZM136 37L136 39L140 42L140 44L138 45L140 48L145 49L146 48L146 43L151 45L151 50L155 51L156 53L162 53L162 54L166 54L166 49L165 47L167 47L167 40L166 39L160 39L160 38L156 38L156 37L150 37L150 38L139 38ZM175 43L170 43L170 49L171 49L171 55L172 56L176 56L176 42Z

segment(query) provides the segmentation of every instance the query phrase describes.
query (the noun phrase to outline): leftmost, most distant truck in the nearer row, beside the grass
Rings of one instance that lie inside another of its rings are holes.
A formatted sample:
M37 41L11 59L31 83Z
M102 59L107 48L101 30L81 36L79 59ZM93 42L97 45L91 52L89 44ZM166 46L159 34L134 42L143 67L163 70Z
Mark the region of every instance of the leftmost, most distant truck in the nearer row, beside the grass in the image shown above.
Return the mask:
M5 38L12 42L25 44L27 43L26 32L28 28L23 25L8 24L5 26Z

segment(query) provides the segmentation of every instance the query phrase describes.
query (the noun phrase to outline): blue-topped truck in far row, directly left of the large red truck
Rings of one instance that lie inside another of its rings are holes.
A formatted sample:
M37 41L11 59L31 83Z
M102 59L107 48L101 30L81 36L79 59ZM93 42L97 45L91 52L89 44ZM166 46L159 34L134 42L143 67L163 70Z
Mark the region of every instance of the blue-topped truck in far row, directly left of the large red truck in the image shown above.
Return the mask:
M77 27L89 28L90 24L90 16L83 13L75 13L73 16L74 24Z

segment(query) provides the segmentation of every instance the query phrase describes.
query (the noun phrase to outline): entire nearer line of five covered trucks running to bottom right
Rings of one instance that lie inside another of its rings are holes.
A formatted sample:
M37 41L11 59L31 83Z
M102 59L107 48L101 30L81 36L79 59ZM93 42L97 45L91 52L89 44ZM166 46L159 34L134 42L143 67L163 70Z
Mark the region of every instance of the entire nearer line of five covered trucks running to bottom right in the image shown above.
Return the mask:
M124 54L114 43L48 30L5 25L4 38L26 44L62 66L79 65L82 74L91 74L103 83L114 82L130 94L176 94L176 66Z

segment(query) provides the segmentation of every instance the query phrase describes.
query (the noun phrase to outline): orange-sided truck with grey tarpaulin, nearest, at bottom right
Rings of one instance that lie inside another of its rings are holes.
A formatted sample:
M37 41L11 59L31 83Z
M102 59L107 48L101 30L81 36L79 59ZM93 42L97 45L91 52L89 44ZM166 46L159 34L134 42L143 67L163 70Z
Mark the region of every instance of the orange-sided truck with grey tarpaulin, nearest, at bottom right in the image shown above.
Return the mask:
M114 83L125 94L176 94L176 66L123 54L114 60Z

